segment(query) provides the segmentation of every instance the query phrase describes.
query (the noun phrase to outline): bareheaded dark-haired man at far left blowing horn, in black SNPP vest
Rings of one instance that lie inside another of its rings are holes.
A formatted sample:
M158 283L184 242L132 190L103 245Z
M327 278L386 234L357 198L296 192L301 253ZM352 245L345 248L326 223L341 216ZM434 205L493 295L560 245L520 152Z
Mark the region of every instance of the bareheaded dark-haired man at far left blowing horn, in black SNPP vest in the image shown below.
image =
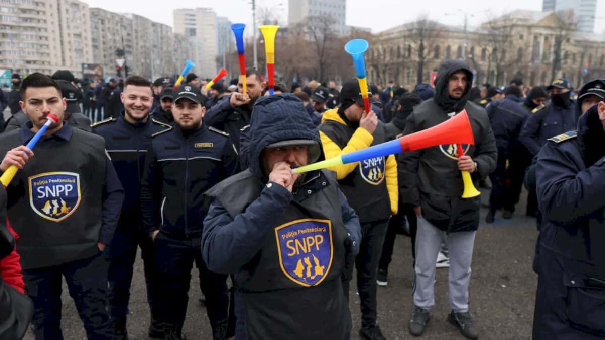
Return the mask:
M67 101L57 82L41 73L21 85L21 109L30 118L0 136L0 171L19 171L7 186L8 218L19 234L28 295L34 302L36 339L62 339L62 276L89 339L113 339L106 312L107 261L123 201L123 189L102 137L64 122ZM54 114L36 145L23 146Z

